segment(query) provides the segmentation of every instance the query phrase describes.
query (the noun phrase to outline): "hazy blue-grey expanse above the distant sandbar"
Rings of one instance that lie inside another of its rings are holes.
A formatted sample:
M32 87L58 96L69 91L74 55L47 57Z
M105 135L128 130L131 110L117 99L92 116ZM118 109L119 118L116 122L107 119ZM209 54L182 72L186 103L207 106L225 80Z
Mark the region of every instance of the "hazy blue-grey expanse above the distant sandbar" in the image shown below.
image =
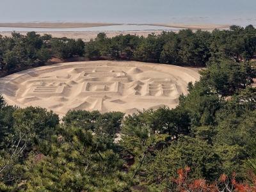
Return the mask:
M256 22L256 0L1 0L0 22Z

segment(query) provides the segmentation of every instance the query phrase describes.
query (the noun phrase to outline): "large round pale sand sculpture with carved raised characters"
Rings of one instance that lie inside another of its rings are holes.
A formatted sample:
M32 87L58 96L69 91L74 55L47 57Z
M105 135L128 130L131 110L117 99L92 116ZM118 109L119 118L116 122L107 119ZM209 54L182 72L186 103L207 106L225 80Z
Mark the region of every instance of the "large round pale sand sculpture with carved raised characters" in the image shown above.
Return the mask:
M175 108L199 74L174 65L135 61L83 61L32 68L0 79L6 102L40 106L60 116L68 109L136 113Z

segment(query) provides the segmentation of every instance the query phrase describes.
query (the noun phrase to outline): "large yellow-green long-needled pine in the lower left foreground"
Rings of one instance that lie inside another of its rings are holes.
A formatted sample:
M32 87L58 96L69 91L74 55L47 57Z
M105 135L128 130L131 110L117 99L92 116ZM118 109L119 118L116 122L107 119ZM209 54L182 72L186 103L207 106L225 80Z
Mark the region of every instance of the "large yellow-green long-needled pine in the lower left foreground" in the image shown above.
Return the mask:
M119 172L122 160L115 144L100 141L91 131L61 127L54 136L51 151L25 164L29 170L28 191L121 191L127 188L125 174Z

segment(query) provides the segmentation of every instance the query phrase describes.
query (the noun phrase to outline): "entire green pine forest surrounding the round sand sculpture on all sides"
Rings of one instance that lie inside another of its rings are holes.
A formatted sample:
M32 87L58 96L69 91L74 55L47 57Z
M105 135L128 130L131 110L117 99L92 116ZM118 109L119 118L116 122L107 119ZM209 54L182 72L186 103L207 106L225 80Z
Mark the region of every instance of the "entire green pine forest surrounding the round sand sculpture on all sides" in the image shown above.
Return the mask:
M120 112L8 106L0 97L0 191L255 191L256 29L81 40L0 38L2 70L52 56L207 66L175 109Z

